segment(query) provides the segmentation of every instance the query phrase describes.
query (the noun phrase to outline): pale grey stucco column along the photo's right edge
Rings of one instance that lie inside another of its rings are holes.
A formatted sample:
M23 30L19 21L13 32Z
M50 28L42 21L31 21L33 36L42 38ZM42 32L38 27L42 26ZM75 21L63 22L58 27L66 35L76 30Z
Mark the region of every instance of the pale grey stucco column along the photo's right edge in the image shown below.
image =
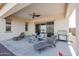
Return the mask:
M76 54L79 55L79 4L76 4Z

